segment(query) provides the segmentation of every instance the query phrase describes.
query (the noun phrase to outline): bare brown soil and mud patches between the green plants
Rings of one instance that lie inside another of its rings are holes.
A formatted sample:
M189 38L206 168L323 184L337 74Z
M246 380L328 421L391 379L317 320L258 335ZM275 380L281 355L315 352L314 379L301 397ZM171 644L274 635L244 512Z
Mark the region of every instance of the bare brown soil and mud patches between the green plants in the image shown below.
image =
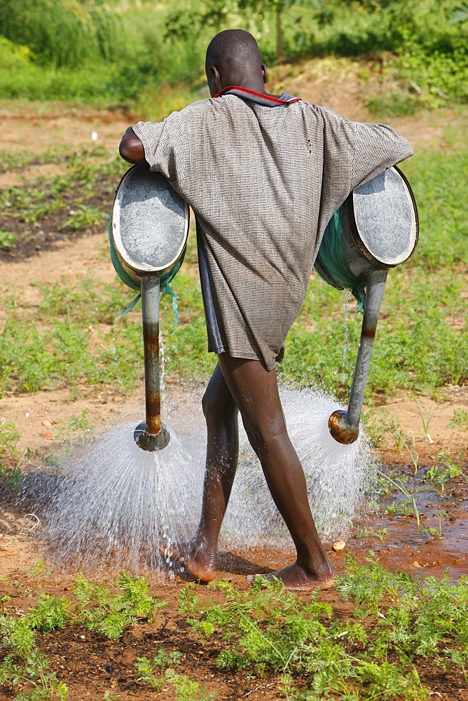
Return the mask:
M333 87L332 83L323 84L319 78L305 81L301 74L294 80L291 88L305 99L326 102L350 118L369 118L359 97L359 81L356 76L344 76L341 83L336 79ZM89 145L93 131L98 134L99 144L116 148L128 123L136 121L135 116L118 111L96 111L88 107L68 107L62 104L18 106L4 102L0 104L0 116L0 150L8 149L15 153L27 148L37 154L49 148ZM443 138L448 118L451 117L449 113L441 112L394 120L392 123L410 137L415 147L418 144L425 147ZM36 177L41 172L60 172L60 167L60 163L32 163L20 172L12 167L0 174L0 187L24 182L23 179ZM95 204L108 207L112 191L112 186L103 185L102 190L95 193ZM31 236L22 250L15 254L4 254L0 262L0 284L5 294L14 285L22 291L24 299L34 306L37 304L38 292L33 283L50 283L55 275L60 278L60 275L66 274L73 280L92 273L100 280L111 282L114 273L105 251L105 225L71 235L70 232L60 232L57 220L51 217L46 229L42 225L40 229L31 226ZM183 395L185 389L173 382L169 391ZM196 391L201 395L202 388L197 388ZM415 519L411 515L369 515L362 523L353 524L351 532L346 536L344 550L333 552L333 543L326 543L326 550L338 574L344 571L347 552L363 559L370 548L378 552L381 561L389 569L403 569L415 575L440 575L448 569L454 579L467 573L467 481L463 477L457 477L441 494L440 491L427 491L423 479L425 470L429 465L434 465L440 451L449 449L452 454L457 454L466 449L468 444L466 432L448 428L454 409L468 409L468 388L448 386L441 396L442 401L438 402L434 402L431 397L420 397L422 406L425 409L430 407L434 412L430 424L433 444L429 444L424 436L411 434L411 431L422 430L418 407L411 398L399 394L387 401L383 398L382 401L383 406L399 419L401 430L408 437L415 437L420 463L418 475L413 475L414 470L406 451L397 449L391 438L379 450L385 469L394 468L394 474L406 475L412 488L415 491L421 490L418 491L418 503L422 524L439 529L442 537L434 537L434 534L422 536L415 528ZM26 470L38 468L41 461L38 457L34 458L34 451L44 454L55 447L53 433L48 428L54 422L71 415L79 416L83 409L88 409L90 423L106 427L120 423L126 416L139 416L143 413L142 407L142 390L128 398L81 388L81 395L73 402L69 401L67 388L0 398L0 416L13 422L20 430L20 451L29 447L32 452ZM462 458L462 463L466 470L466 458ZM388 503L392 498L387 498ZM444 513L443 517L440 516L441 512ZM356 538L364 526L373 531L373 534ZM387 529L387 536L380 540L376 533L383 528ZM41 592L58 597L72 597L75 570L68 568L66 563L51 561L47 550L42 547L42 535L42 524L37 524L34 516L27 515L20 505L15 505L11 494L5 493L0 497L0 599L4 595L11 597L5 604L7 613L24 615ZM39 560L44 563L46 573L38 574L34 571ZM249 586L245 578L247 574L278 569L288 562L291 562L290 552L264 547L233 552L224 550L219 562L219 578L226 578L240 590L245 590ZM110 584L115 575L115 572L106 569L96 573L96 579ZM138 681L133 665L137 655L153 656L160 645L184 653L184 672L191 679L206 684L207 690L215 690L219 699L249 698L254 701L282 697L272 690L279 681L276 676L266 673L263 679L249 679L245 673L221 672L216 667L215 660L221 641L210 639L209 644L201 646L198 637L177 610L179 592L186 584L184 576L177 576L174 580L160 580L152 578L149 573L149 578L151 594L168 602L153 623L142 622L125 632L115 643L98 634L90 634L81 627L67 627L40 637L42 651L48 655L60 679L69 686L71 701L100 700L106 691L111 693L109 698L120 698L122 701L173 698L174 692L169 686L161 692L150 691L144 683ZM195 584L195 591L202 598L216 599L216 596L221 596L198 584ZM333 591L323 592L321 599L332 604L336 617L349 613L350 605L339 601ZM450 701L468 699L461 673L444 674L431 665L419 671L422 683L431 690L432 695ZM11 699L13 695L6 689L0 690L0 699Z

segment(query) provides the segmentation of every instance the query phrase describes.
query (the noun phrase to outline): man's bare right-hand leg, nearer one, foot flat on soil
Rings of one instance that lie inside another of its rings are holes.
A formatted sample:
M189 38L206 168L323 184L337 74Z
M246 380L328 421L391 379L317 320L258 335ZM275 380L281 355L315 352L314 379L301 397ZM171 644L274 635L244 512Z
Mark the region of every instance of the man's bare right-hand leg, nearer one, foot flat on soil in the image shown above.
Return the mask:
M302 465L287 434L275 370L268 372L258 360L226 354L219 355L219 365L273 500L296 545L296 562L273 576L291 590L333 586L331 566L310 512Z

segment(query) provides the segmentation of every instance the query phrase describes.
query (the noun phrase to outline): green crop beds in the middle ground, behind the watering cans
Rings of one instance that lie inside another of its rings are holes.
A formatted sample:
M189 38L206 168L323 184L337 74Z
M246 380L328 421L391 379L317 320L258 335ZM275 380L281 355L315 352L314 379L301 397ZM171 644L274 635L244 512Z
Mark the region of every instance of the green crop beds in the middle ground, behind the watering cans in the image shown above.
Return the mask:
M457 141L457 133L452 135ZM102 147L68 154L66 172L28 186L4 189L1 200L11 216L44 221L50 207L66 201L63 226L76 230L106 218L106 211L88 205L99 184L111 191L125 170L120 159ZM60 158L55 154L54 158ZM447 383L468 379L466 299L466 222L468 184L462 177L468 153L462 148L422 151L403 165L415 191L420 214L420 241L413 257L389 273L373 351L368 396L395 390L436 393ZM97 224L99 226L99 224ZM104 228L104 224L102 224ZM14 246L15 244L13 244ZM161 329L166 371L184 379L205 381L215 358L206 351L205 318L196 271L194 233L186 260L173 287L179 295L179 324L169 297L161 304ZM109 261L110 265L110 261ZM139 306L118 320L131 290L116 280L106 285L67 278L39 286L41 301L34 311L9 290L0 333L0 393L36 392L66 384L75 391L83 380L129 392L142 372ZM321 385L346 396L355 365L362 316L347 313L343 293L312 274L303 309L287 339L286 358L279 365L286 383ZM90 325L102 343L90 346Z

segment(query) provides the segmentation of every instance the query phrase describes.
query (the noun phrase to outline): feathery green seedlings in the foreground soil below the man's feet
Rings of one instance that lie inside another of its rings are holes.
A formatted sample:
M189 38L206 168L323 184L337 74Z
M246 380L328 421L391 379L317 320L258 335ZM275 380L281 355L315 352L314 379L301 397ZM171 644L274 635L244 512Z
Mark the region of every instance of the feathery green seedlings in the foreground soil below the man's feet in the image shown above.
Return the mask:
M0 665L0 684L13 691L23 688L18 700L67 697L67 686L41 653L39 631L43 637L51 636L85 622L91 632L116 640L118 630L136 625L137 619L151 630L152 612L163 603L149 597L144 578L121 573L117 584L121 593L113 595L103 585L78 576L76 604L67 597L42 594L22 618L4 610L0 629L6 656ZM338 578L334 606L343 601L352 606L341 606L339 616L331 604L319 600L319 590L301 598L284 590L280 582L263 578L257 578L247 592L228 582L209 588L216 601L203 603L196 593L201 589L193 584L181 591L179 612L195 633L187 634L191 650L196 655L212 651L219 669L231 674L242 670L259 683L268 674L272 692L291 701L332 697L419 701L434 693L420 679L429 664L467 678L466 577L457 584L448 577L413 579L385 570L373 552L364 564L347 556L347 573ZM116 628L110 621L116 611L122 614L123 604L127 619ZM97 620L105 625L96 627ZM152 660L137 655L135 668L140 683L155 691L170 683L180 701L215 697L179 672L186 671L186 662L177 650L177 637L167 638ZM36 690L42 695L34 695Z

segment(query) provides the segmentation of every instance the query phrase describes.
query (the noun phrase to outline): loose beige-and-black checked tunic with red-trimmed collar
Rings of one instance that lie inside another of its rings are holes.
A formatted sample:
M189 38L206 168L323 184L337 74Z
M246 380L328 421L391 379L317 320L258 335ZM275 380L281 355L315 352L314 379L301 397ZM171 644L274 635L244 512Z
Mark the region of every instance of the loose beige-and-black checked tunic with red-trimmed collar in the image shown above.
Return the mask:
M242 88L133 130L195 212L209 350L267 369L282 360L333 213L413 153L387 125Z

